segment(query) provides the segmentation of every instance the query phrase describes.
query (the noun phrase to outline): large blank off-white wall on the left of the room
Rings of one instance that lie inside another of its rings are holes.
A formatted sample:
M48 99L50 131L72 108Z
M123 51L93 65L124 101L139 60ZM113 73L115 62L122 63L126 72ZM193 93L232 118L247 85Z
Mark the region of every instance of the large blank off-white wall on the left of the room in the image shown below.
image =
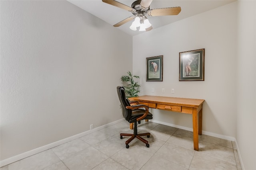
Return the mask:
M0 3L1 160L122 118L132 37L67 1Z

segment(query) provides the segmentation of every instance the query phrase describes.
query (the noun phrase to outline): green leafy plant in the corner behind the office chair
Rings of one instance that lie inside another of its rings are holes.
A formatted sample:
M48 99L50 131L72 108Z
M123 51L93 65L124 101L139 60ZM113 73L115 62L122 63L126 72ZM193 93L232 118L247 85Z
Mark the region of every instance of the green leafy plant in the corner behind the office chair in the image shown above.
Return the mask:
M138 97L138 93L140 92L140 85L138 82L134 81L134 78L140 78L139 76L132 75L130 71L127 72L128 76L122 76L122 82L127 82L127 86L124 86L124 91L126 93L126 97Z

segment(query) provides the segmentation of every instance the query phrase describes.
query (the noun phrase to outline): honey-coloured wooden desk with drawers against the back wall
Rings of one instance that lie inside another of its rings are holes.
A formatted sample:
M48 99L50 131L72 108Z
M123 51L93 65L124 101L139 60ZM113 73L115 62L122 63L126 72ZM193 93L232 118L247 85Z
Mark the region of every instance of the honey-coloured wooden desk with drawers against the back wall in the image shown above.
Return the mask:
M172 98L162 96L139 96L129 98L130 101L137 101L154 109L176 111L192 114L194 150L198 151L198 134L202 135L202 99Z

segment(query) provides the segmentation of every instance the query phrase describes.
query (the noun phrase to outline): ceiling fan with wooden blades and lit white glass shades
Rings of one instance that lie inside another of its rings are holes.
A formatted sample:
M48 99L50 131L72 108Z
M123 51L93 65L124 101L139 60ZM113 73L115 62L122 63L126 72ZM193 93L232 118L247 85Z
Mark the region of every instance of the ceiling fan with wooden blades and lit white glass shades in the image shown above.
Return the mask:
M170 8L157 8L157 9L150 9L150 4L152 0L136 0L132 3L132 6L124 5L116 0L102 0L107 4L116 6L118 8L122 8L124 10L132 12L133 16L130 16L115 25L114 27L119 27L124 23L133 20L130 29L136 31L137 27L140 27L139 31L150 31L153 27L146 18L148 16L170 16L170 15L178 15L181 11L180 7L170 7Z

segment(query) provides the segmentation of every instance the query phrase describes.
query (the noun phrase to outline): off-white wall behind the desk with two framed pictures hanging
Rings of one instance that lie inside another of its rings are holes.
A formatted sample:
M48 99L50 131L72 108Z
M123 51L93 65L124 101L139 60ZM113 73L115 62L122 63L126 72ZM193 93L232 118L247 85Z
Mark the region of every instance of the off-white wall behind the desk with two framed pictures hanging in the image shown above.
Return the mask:
M179 81L179 53L196 49L205 49L205 81ZM146 82L146 57L158 55L164 56L163 82ZM202 130L228 139L236 136L234 65L234 3L133 37L133 72L141 77L141 95L204 99ZM191 115L157 109L152 112L154 120L192 128Z

